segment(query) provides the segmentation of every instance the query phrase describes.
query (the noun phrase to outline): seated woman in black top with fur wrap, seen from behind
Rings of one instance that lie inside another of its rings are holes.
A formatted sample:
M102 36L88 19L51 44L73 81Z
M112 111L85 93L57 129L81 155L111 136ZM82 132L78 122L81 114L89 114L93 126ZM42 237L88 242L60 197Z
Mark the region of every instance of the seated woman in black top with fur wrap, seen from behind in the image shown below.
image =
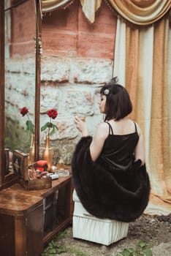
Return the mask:
M105 118L94 138L88 136L86 123L75 117L83 137L72 158L73 181L89 213L130 222L140 217L150 192L142 132L127 117L132 102L116 78L100 94L99 108Z

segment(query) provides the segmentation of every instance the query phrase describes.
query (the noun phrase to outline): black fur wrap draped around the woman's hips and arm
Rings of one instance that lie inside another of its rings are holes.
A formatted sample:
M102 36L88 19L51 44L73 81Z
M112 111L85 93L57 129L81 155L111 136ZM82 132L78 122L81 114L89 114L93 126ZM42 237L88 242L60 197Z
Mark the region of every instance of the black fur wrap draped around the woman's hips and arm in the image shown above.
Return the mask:
M72 179L80 202L99 218L132 222L148 204L150 181L145 165L134 162L130 170L107 170L93 162L89 151L91 136L77 143L72 157Z

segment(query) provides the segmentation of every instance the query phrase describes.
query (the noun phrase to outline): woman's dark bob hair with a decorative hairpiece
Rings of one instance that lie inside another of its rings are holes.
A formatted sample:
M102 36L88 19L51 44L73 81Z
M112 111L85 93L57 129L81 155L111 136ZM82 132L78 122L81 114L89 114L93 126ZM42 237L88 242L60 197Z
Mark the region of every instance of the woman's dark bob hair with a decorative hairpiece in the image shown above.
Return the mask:
M132 112L132 102L128 91L118 84L118 78L112 78L109 83L105 83L100 94L106 96L105 118L104 121L110 119L120 120L128 116Z

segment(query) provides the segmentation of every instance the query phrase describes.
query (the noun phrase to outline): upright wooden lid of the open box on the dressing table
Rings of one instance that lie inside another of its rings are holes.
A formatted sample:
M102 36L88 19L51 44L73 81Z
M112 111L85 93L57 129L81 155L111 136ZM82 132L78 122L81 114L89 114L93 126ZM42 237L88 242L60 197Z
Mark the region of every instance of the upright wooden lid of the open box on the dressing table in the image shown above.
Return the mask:
M18 174L18 178L28 181L28 154L15 150L12 154L12 168Z

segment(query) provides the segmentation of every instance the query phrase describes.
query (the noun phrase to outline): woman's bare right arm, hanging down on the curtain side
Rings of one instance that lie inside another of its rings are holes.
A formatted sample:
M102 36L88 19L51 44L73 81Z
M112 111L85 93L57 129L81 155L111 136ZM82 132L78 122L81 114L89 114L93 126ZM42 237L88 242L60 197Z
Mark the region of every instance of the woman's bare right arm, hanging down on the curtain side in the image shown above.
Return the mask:
M136 148L134 149L134 158L135 158L135 161L137 159L140 159L142 161L142 165L143 165L143 164L145 164L144 139L143 139L141 129L138 125L137 125L137 132L139 135L139 140L138 140Z

